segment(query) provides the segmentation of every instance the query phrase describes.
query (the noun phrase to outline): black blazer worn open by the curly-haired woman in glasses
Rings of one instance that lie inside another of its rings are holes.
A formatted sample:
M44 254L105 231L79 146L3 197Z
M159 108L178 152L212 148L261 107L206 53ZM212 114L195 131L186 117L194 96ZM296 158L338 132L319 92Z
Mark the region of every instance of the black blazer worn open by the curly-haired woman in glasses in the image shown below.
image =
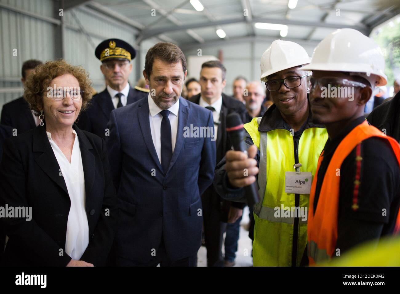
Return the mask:
M82 155L89 224L89 244L81 260L100 266L105 264L114 239L116 194L104 140L75 125L74 130ZM6 140L0 193L0 206L32 207L30 221L0 219L9 237L3 264L66 266L71 260L64 252L70 197L45 126Z

